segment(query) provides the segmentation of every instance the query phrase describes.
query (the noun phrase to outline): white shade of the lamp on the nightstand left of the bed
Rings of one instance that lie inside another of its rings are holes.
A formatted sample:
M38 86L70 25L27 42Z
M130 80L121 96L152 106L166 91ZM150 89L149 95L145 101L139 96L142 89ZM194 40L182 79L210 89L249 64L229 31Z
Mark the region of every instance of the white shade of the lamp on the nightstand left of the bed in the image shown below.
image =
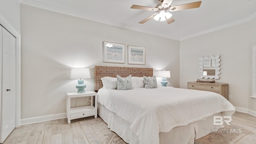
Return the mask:
M91 78L89 68L72 68L70 79Z

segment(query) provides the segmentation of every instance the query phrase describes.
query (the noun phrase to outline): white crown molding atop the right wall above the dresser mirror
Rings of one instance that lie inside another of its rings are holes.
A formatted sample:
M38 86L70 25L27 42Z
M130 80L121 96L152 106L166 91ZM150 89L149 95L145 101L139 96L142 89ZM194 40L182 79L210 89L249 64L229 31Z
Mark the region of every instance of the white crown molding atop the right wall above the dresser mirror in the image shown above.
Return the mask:
M217 30L222 30L224 28L229 28L231 26L236 26L236 25L239 25L239 24L244 24L246 22L250 22L251 20L254 20L255 18L256 18L256 12L254 12L253 14L248 16L247 18L243 18L241 20L230 22L230 23L224 24L222 26L217 26L215 28L210 28L208 30L204 30L202 32L197 32L195 34L191 34L191 35L188 35L188 36L184 36L184 37L180 38L180 41L186 40L186 39L189 39L189 38L193 38L193 37L196 37L196 36L200 36L200 35L203 35L203 34L208 34L210 32L214 32L214 31L217 31Z

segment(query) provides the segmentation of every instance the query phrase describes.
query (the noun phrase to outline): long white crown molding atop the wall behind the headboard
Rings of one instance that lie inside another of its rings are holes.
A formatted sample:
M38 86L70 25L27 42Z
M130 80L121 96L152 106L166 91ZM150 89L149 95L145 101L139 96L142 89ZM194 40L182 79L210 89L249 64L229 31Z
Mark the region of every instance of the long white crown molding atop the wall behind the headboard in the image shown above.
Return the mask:
M169 35L150 32L150 30L148 30L148 29L141 29L141 28L137 28L137 27L134 27L134 26L127 25L127 24L112 22L112 21L108 21L108 20L102 20L101 18L97 18L97 17L90 16L90 15L87 15L87 14L82 14L82 13L79 13L79 12L74 12L72 10L67 10L67 9L64 9L64 8L57 7L57 6L52 6L52 5L49 5L49 4L42 3L42 2L37 2L35 0L20 0L20 3L28 5L28 6L34 6L34 7L37 7L37 8L42 8L44 10L50 10L50 11L58 12L58 13L61 13L61 14L75 16L75 17L78 17L78 18L92 20L92 21L95 21L95 22L100 22L100 23L103 23L103 24L108 24L108 25L112 25L112 26L126 28L126 29L129 29L129 30L143 32L143 33L151 34L151 35L154 35L154 36L160 36L160 37L169 38L169 39L178 40L178 41L180 40L180 38L177 38L177 37L171 37Z

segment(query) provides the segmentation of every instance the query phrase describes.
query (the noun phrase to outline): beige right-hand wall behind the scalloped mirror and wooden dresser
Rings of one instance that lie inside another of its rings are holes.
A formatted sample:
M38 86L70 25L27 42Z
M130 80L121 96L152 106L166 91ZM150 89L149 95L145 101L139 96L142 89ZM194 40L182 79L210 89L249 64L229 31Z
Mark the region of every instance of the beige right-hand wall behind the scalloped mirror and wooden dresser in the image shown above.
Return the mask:
M196 81L198 58L220 55L220 79L229 84L229 101L237 107L256 111L252 96L252 46L256 46L256 20L180 42L180 88Z

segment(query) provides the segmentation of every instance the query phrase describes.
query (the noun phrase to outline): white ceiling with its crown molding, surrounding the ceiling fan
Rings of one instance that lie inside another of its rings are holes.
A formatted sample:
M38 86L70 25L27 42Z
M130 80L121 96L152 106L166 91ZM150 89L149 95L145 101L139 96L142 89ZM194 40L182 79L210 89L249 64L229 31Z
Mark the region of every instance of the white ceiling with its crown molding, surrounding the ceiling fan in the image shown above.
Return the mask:
M175 22L171 24L154 19L138 24L154 12L130 8L133 4L155 7L159 3L158 0L20 1L22 4L175 40L183 40L256 18L256 0L201 0L200 8L172 12ZM173 0L171 5L196 1L199 0Z

